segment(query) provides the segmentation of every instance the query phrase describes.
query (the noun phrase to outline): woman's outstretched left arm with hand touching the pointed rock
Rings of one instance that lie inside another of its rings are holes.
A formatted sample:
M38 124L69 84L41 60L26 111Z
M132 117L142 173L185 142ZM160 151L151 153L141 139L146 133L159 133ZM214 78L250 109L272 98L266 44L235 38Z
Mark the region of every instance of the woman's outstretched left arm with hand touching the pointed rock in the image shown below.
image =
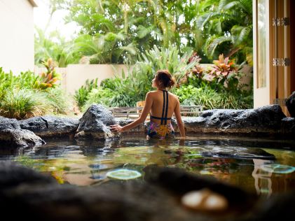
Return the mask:
M151 92L146 94L146 100L144 104L144 109L142 110L142 114L140 115L137 120L134 122L125 125L124 127L121 127L120 125L111 125L111 130L116 132L123 132L128 131L129 129L132 129L133 127L136 127L138 124L142 124L145 120L147 115L149 114L149 110L151 110L151 106L153 104L153 99L151 97Z

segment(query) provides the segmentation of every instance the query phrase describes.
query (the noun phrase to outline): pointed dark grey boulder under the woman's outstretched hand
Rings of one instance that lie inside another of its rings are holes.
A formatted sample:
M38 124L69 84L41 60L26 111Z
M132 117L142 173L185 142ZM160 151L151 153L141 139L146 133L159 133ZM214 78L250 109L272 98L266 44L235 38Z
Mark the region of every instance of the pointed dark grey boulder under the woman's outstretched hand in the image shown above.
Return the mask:
M116 135L111 132L109 126L116 123L117 122L110 110L101 104L92 105L83 114L83 117L78 125L75 138L113 138Z

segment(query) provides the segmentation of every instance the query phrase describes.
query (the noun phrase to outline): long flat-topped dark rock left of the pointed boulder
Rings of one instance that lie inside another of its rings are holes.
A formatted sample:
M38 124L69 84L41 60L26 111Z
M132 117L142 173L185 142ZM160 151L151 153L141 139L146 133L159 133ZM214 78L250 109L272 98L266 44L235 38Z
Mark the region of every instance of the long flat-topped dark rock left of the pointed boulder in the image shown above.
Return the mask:
M67 117L31 117L27 120L20 120L20 127L33 131L41 137L60 137L74 135L78 128L79 120Z

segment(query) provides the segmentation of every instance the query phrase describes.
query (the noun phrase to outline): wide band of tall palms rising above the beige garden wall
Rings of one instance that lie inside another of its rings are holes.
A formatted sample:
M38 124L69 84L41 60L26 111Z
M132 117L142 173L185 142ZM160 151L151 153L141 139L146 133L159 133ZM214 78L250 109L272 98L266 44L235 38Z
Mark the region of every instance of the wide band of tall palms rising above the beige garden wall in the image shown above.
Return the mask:
M153 45L172 44L180 55L198 52L203 62L224 53L252 64L252 0L51 0L50 6L52 13L68 10L67 22L76 22L81 33L72 44L39 34L35 57L58 61L60 54L60 64L77 56L91 64L134 64Z

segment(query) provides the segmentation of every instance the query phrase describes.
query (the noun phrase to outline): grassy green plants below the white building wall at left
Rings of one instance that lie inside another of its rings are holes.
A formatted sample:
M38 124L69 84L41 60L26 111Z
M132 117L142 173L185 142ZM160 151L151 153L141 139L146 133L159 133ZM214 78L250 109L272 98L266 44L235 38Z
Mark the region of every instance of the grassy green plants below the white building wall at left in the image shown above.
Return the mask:
M25 119L46 113L66 113L69 102L60 85L36 87L36 83L42 80L31 71L13 76L13 73L4 73L0 68L0 115ZM53 81L48 80L47 83Z

